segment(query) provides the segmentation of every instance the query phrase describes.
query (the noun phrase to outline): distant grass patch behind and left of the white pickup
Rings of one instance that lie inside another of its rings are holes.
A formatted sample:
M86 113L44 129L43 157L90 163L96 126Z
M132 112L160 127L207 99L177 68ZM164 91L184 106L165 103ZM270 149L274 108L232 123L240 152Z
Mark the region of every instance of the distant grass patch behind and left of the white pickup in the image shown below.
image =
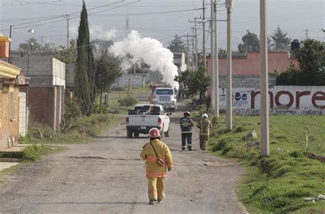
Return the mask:
M149 94L151 93L150 88L141 88L141 87L132 87L132 91L130 92L130 97L135 97L139 94L147 94L149 97ZM110 93L110 108L111 109L117 109L121 112L122 115L126 115L128 113L128 110L130 110L133 106L121 106L119 104L119 99L123 99L125 97L128 97L128 88L124 88L123 91L113 91Z

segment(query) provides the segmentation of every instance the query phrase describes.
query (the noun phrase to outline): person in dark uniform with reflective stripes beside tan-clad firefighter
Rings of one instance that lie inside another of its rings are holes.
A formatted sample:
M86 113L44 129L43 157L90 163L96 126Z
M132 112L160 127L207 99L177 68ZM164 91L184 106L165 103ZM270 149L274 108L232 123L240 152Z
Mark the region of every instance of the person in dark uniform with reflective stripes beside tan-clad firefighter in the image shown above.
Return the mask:
M182 151L187 148L192 151L192 126L194 126L193 120L191 119L191 113L186 110L183 113L184 117L180 119L180 129L182 131Z

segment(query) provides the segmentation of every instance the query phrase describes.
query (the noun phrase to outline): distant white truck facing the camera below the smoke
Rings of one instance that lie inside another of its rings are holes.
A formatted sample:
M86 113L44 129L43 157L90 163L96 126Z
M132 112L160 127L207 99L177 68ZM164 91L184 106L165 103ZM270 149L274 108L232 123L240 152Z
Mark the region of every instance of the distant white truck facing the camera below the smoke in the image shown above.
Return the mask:
M176 112L177 100L173 88L156 88L153 93L153 103L165 107L167 110Z

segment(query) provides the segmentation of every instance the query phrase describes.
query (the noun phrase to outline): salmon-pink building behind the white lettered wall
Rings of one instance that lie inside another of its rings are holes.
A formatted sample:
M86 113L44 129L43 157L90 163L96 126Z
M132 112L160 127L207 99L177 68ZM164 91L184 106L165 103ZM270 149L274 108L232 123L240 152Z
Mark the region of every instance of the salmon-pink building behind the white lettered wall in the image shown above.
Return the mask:
M207 74L211 73L210 56L206 59ZM227 58L219 57L219 87L226 87ZM260 53L248 52L244 56L232 56L232 87L259 88L260 86ZM269 86L276 85L276 75L284 72L290 64L299 65L296 58L291 58L289 52L269 52ZM210 94L210 88L208 94Z

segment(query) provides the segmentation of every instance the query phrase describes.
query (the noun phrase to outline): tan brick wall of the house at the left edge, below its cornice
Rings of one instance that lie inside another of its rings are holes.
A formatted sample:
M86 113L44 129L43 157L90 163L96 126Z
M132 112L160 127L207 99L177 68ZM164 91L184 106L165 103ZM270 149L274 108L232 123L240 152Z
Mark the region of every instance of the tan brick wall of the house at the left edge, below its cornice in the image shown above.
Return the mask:
M12 104L10 104L12 96ZM10 106L12 106L12 117L10 117ZM0 90L0 150L18 143L18 116L19 115L19 89L16 86L4 85ZM14 140L14 142L12 141Z

